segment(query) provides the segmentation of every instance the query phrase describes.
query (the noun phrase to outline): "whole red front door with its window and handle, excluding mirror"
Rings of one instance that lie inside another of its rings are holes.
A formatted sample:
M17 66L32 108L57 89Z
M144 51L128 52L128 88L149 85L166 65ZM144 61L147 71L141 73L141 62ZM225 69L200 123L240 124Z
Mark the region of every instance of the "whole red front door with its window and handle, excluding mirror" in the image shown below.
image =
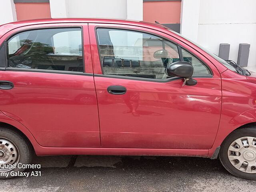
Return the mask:
M102 147L211 148L221 108L216 68L152 30L98 26L94 34L94 27L89 25L94 71L102 66L102 74L94 74ZM195 86L166 75L166 66L178 60L194 66Z

